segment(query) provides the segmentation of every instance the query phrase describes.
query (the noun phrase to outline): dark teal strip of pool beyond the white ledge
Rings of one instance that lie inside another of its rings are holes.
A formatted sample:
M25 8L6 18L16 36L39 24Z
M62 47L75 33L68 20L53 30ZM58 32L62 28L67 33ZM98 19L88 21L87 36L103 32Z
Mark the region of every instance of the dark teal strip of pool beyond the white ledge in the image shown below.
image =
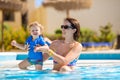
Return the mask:
M11 56L13 57L13 56ZM18 54L16 60L23 60L26 59L27 55L25 54ZM79 57L80 60L120 60L120 53L84 53L81 54Z

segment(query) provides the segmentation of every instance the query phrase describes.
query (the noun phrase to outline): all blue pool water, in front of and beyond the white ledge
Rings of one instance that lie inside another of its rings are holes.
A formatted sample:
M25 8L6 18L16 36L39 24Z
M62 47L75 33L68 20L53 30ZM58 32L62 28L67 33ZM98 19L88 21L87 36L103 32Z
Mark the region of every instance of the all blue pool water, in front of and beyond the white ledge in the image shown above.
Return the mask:
M0 54L1 62L24 60L27 58L27 54L24 53L3 54ZM120 60L120 52L82 53L79 60ZM26 71L11 68L0 70L0 80L120 80L120 64L113 66L79 66L70 73L54 73L50 69Z

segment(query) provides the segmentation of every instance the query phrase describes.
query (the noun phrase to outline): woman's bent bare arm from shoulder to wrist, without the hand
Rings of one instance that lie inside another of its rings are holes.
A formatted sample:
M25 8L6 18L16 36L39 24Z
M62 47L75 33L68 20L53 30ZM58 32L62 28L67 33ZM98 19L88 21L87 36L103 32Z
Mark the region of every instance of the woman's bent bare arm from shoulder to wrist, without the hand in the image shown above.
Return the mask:
M80 52L82 51L81 44L77 44L74 48L72 48L68 54L63 57L59 54L56 54L54 51L49 50L49 54L52 56L52 58L57 61L61 65L67 65L75 58L79 57Z

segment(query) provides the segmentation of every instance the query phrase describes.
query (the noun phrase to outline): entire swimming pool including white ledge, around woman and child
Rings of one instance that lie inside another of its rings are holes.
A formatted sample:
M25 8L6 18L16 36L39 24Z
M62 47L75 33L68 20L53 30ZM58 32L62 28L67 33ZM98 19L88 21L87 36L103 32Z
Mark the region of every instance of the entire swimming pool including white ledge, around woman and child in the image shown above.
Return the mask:
M20 70L17 64L26 57L24 52L0 54L0 80L120 80L120 51L82 52L71 73L51 72L51 59L42 71L35 71L33 66Z

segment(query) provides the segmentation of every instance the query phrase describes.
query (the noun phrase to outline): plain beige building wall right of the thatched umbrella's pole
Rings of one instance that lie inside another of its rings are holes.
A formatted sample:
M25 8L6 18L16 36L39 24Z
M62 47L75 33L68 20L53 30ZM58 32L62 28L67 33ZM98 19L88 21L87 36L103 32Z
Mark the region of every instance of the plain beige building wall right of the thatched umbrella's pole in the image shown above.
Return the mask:
M120 32L120 0L93 0L90 9L72 11L71 16L76 17L82 27L99 30L100 26L111 23L113 31Z

